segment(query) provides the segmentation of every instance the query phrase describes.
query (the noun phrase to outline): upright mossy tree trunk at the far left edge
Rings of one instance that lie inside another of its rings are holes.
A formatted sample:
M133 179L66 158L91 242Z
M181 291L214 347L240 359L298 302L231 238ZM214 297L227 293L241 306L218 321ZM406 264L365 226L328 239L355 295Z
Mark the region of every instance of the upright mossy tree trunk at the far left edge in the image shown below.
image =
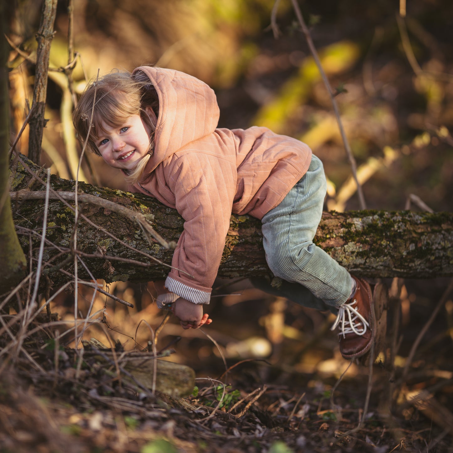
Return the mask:
M8 152L10 117L6 62L9 46L5 39L11 6L0 2L0 294L5 293L24 275L26 260L17 238L8 193Z

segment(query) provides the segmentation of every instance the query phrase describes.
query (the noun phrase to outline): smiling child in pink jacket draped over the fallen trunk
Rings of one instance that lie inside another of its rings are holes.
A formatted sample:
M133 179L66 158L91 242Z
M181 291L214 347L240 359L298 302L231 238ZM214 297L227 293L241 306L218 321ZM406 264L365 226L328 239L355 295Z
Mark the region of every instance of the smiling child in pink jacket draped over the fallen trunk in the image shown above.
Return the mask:
M337 313L333 328L339 327L343 357L368 351L374 338L369 284L312 242L326 178L307 145L264 127L217 128L211 88L183 72L148 66L112 72L87 87L73 114L81 140L95 96L89 149L185 221L160 307L172 304L185 329L211 323L203 304L209 304L231 213L249 214L261 219L267 263L284 280L279 294Z

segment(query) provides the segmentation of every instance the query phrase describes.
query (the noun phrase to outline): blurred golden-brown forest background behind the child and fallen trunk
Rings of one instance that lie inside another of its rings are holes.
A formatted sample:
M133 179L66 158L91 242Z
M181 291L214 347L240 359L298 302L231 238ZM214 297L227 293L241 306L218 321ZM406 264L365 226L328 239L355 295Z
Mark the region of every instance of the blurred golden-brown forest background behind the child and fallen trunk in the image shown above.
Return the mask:
M41 6L38 0L18 0L9 36L12 140L22 127L27 100L31 103L33 98L34 64L29 60L35 56L34 34L39 27ZM331 101L299 29L293 6L289 0L280 1L276 13L278 38L270 27L273 6L273 0L77 0L73 36L74 51L79 58L72 72L76 97L98 70L104 74L113 68L132 70L142 64L155 64L188 72L216 91L220 127L263 125L304 141L324 163L329 182L325 209L340 212L359 209L351 166ZM408 0L405 17L399 14L399 7L397 1L390 0L301 3L321 63L337 93L367 208L452 211L453 3ZM64 0L58 2L55 30L50 66L64 67L68 62L68 11ZM68 179L75 178L81 151L70 121L73 103L67 77L62 72L49 72L42 164ZM16 146L23 154L28 153L27 134L26 129ZM120 173L92 154L86 156L79 179L125 188ZM397 338L400 348L397 353L394 351L395 363L390 366L393 371L381 367L375 373L378 391L373 392L371 412L376 414L379 401L375 393L387 388L389 372L394 372L395 364L404 365L412 343L449 281L439 278L386 283L391 287L390 295L396 307L389 314L389 326L393 325L389 336ZM134 347L136 337L146 347L151 339L146 323L156 328L164 316L153 303L154 284L115 282L106 285L106 289L135 308L125 308L111 299L106 301L105 296L98 294L92 313L105 316L108 329L94 324L85 336L96 337L104 344L109 343L109 336L123 343L125 349ZM175 353L170 360L190 365L198 377L204 377L218 376L225 371L219 348L229 365L243 359L265 358L273 366L249 363L239 367L241 375L231 377L236 388L246 392L248 387L263 382L284 388L279 393L280 403L277 399L272 410L278 407L280 415L287 410L285 417L297 400L294 398L292 405L288 403L288 393L302 395L307 391L303 406L306 412L300 415L299 408L294 407L299 422L304 417L307 419L310 405L314 408L311 419L317 419L318 414L318 419L326 422L323 409L327 410L328 406L322 405L328 400L325 392L332 389L348 365L337 350L336 334L328 331L332 318L266 295L253 289L248 281L218 280L214 295L207 308L213 323L204 330L218 346L200 331L183 332L171 319L159 339L164 345L182 337L172 346ZM74 320L73 301L73 294L60 295L52 312L70 323ZM79 288L79 310L83 317L87 316L91 302L92 293ZM451 300L441 313L424 336L415 361L421 374L410 384L422 388L428 375L430 384L437 382L433 379L446 379L449 385L445 384L436 395L437 404L451 409ZM389 342L393 341L391 338ZM430 372L424 375L423 370ZM365 400L367 380L368 368L352 365L337 390L347 395L345 400L357 400L355 404L348 403L356 413ZM400 390L403 387L407 390L408 382L401 384ZM354 389L359 387L360 395L353 398ZM316 395L318 399L313 402ZM392 398L396 400L402 394L395 395ZM399 416L405 420L402 423L407 423L406 431L398 431L397 435L392 432L388 439L383 438L386 440L381 445L387 449L379 451L408 445L413 445L412 451L418 451L420 445L431 445L439 433L446 437L429 451L448 450L445 440L451 440L448 422L434 420L433 423L433 417L424 418L426 414L414 406L406 405L404 410ZM333 419L329 417L330 423ZM447 420L451 421L448 417ZM79 424L84 426L82 422ZM426 436L419 434L419 429L427 430ZM371 431L367 435L372 438ZM366 448L377 442L376 436L373 439ZM296 448L294 442L292 448ZM276 444L272 445L261 447L274 448ZM106 451L121 451L114 446L109 448ZM178 448L186 451L181 445ZM192 451L187 445L184 448ZM137 447L130 451L145 450ZM377 447L372 451L378 451Z

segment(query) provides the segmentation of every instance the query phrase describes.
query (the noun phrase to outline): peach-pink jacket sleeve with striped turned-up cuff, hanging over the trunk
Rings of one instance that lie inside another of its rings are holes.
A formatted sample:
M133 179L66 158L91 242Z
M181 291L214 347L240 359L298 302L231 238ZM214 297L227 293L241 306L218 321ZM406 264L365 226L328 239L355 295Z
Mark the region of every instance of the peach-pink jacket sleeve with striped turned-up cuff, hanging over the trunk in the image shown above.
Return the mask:
M177 158L170 179L185 222L165 286L194 304L209 304L230 227L236 166L193 151Z

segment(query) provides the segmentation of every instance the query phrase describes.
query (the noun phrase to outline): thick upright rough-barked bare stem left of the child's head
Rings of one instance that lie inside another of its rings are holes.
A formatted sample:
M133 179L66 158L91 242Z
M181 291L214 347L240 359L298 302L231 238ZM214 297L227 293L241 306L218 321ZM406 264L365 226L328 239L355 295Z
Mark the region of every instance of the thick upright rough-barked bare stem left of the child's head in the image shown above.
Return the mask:
M45 125L44 108L46 105L47 72L56 13L57 0L44 0L41 24L36 34L38 50L36 53L36 75L33 93L33 105L35 109L30 118L29 133L29 159L38 165L41 160L41 142Z

